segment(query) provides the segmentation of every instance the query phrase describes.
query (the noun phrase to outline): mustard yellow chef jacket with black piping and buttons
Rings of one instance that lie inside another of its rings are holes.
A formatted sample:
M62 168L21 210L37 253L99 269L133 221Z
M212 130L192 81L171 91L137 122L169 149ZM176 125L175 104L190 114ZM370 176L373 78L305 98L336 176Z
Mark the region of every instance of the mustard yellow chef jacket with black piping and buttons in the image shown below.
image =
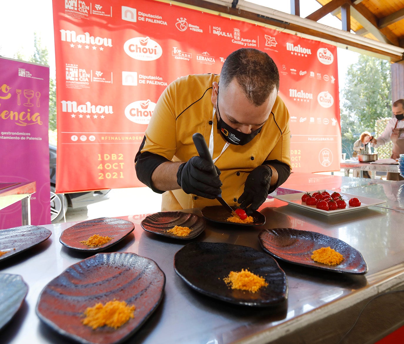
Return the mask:
M226 141L217 130L211 101L212 83L219 82L219 77L215 74L185 76L168 85L160 96L135 159L139 180L155 192L164 192L151 183L151 174L158 165L166 161L187 162L198 155L192 140L194 133L200 132L209 145L213 126L213 159L220 155ZM246 145L230 144L215 162L221 171L222 197L229 205L238 205L248 173L264 162L274 166L279 174L271 192L290 174L289 113L279 96L261 132ZM162 211L219 204L216 199L189 195L182 189L162 195Z

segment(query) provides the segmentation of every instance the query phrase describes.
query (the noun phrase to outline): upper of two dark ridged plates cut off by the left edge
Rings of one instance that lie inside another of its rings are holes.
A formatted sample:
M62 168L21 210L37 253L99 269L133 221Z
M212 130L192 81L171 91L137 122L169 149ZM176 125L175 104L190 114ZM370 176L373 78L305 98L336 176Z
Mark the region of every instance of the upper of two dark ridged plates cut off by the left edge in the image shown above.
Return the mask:
M0 257L0 262L45 241L51 234L45 227L32 225L2 229L0 251L6 253Z

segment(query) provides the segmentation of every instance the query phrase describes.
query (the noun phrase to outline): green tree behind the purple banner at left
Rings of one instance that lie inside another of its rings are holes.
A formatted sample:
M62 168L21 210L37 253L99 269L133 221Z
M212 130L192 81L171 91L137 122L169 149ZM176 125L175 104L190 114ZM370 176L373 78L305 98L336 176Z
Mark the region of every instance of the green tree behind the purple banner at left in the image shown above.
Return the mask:
M14 58L25 60L21 52L15 53ZM41 40L36 33L34 33L34 53L27 61L41 65L49 64L48 49L42 48ZM49 129L56 130L56 82L52 77L49 77Z

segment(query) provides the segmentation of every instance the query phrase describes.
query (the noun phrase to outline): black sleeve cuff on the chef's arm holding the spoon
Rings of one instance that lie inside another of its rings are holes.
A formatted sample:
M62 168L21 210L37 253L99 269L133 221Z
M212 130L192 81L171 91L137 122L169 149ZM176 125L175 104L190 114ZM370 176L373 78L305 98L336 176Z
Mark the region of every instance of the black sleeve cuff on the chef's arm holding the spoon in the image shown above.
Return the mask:
M162 191L154 187L153 183L151 182L151 174L154 172L157 166L167 161L169 162L170 160L158 154L150 152L140 153L139 149L139 152L137 152L135 157L135 170L137 178L154 192L165 192L165 190Z

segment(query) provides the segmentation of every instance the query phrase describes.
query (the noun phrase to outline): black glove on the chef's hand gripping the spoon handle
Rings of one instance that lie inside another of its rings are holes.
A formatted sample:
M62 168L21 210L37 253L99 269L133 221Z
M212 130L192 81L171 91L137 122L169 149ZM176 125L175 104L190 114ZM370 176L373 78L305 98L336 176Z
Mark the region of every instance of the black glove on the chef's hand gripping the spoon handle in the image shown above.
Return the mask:
M201 157L191 157L188 162L181 164L177 171L177 183L185 193L215 199L222 193L222 183L219 179L220 170L216 168L217 176L213 173L213 166Z

